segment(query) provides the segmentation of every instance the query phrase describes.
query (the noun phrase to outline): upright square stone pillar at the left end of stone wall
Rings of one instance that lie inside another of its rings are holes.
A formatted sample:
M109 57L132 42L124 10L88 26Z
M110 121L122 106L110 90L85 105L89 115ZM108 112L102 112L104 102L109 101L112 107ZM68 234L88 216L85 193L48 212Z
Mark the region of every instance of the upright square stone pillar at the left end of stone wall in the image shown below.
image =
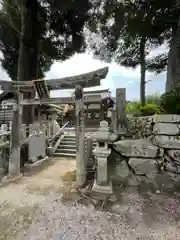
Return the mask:
M126 122L126 89L116 89L116 134L124 135L127 131Z

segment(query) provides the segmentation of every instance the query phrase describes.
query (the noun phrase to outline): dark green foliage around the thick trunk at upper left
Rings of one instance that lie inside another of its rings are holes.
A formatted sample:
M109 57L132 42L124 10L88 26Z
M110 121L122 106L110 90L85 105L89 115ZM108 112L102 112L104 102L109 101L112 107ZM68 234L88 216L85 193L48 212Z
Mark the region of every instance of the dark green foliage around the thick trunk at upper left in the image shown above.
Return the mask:
M1 64L11 79L17 77L23 2L3 0L0 9L0 50L3 55ZM91 4L89 0L37 2L40 29L38 75L43 77L54 60L64 61L76 52L85 50L83 28L88 21ZM27 39L31 38L30 33L31 29L28 29Z

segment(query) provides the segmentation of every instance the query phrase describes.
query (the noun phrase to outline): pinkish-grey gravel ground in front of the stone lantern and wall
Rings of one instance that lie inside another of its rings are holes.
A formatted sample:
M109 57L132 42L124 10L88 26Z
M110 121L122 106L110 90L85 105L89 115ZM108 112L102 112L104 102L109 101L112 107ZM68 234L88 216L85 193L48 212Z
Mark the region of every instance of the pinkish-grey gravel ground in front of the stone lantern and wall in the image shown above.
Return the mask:
M180 239L180 201L173 197L149 194L148 198L126 190L111 205L110 211L97 211L92 205L66 203L51 195L27 232L24 240L176 240Z

